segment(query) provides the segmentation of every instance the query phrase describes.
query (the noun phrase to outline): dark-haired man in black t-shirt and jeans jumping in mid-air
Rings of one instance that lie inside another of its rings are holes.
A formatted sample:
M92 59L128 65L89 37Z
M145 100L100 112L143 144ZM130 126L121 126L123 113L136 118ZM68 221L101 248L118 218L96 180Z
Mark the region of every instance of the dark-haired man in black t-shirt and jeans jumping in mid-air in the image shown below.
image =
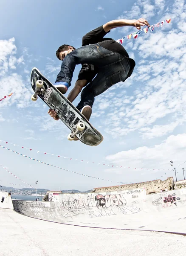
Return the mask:
M81 101L76 107L89 120L92 113L94 99L112 85L125 81L131 76L135 61L129 58L127 51L112 38L104 38L111 29L122 26L150 26L144 18L138 20L112 20L100 26L82 38L82 47L75 49L69 45L62 45L56 51L56 56L62 61L61 70L54 84L63 94L67 92L72 80L73 71L77 64L82 64L78 80L68 95L70 102L81 93ZM88 64L87 64L88 63ZM94 78L94 76L97 76ZM93 79L94 78L94 79ZM48 113L55 120L54 110Z

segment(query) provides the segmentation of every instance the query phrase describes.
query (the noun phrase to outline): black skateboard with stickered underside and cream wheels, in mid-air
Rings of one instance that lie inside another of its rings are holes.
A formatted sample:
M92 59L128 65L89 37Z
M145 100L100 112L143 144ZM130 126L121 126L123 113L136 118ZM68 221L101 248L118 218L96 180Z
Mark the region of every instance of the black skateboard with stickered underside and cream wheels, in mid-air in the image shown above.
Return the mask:
M82 143L90 146L99 145L103 141L103 136L99 131L35 67L31 71L31 86L34 90L31 99L36 101L39 96L49 108L56 111L57 116L71 130L68 140L74 140L74 137L77 136Z

